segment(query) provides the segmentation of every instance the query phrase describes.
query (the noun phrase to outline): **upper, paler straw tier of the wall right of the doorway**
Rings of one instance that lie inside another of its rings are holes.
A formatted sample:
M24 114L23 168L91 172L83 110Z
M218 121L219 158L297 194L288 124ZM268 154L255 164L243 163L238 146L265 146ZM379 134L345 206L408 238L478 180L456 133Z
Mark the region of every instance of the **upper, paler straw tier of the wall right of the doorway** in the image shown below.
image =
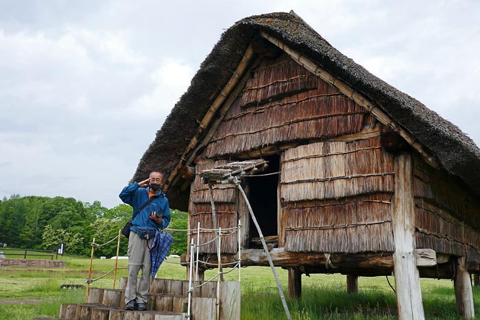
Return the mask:
M393 192L392 159L379 137L288 149L280 175L282 197L301 201Z

